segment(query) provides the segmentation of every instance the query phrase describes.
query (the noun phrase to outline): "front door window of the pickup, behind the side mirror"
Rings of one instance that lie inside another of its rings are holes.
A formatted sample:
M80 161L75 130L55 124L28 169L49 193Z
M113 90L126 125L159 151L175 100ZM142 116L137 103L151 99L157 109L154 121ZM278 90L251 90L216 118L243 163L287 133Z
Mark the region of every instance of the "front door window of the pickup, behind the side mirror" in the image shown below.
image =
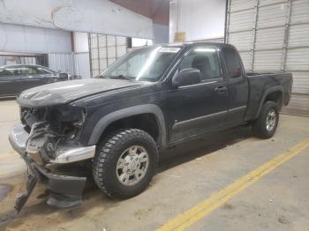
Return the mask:
M215 48L193 48L180 63L179 71L186 68L200 70L201 80L221 78L219 60Z

